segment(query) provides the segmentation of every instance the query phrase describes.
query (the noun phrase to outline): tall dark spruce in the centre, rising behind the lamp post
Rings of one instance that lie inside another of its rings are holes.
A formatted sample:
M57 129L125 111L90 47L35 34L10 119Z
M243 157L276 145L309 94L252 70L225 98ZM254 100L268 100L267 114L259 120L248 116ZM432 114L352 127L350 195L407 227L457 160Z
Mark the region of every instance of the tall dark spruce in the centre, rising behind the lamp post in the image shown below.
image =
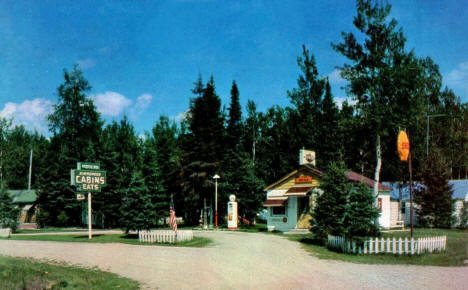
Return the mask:
M180 184L184 193L185 220L195 224L203 201L213 197L212 177L224 157L224 119L213 77L203 94L191 100L188 123L189 132L182 145Z

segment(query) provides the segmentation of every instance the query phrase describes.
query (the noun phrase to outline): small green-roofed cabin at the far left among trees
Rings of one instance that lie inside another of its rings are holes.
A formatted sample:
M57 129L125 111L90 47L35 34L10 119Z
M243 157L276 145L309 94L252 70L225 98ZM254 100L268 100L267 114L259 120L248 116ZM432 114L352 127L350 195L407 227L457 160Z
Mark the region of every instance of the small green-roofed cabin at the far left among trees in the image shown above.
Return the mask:
M8 190L8 194L15 204L20 209L19 227L37 228L36 213L37 213L37 195L36 190L20 189Z

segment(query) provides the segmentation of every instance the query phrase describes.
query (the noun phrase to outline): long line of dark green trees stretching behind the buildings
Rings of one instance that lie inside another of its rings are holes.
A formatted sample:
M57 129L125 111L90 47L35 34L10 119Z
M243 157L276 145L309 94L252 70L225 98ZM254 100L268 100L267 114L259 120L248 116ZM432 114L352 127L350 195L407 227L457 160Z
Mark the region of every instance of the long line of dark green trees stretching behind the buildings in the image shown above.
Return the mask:
M205 82L199 75L187 96L186 117L175 122L161 116L141 138L126 117L105 124L89 98L89 82L75 66L64 70L57 89L58 102L48 116L50 138L1 119L2 185L27 187L33 149L38 221L80 225L84 205L70 185L70 169L80 161L99 162L108 176L108 185L93 201L100 223L131 230L158 226L168 215L171 195L177 215L196 224L205 201L214 203L212 177L219 174L220 216L228 195L236 194L239 214L252 220L265 185L298 166L301 148L316 151L322 170L342 162L377 181L408 180L396 153L400 129L409 132L415 172L438 158L451 178L466 178L468 105L442 88L431 58L406 48L402 29L389 19L390 5L358 0L356 7L356 32L343 32L342 41L332 44L347 58L340 71L353 102L336 104L328 78L303 46L297 85L286 92L288 106L260 112L249 100L242 110L241 89L233 81L226 108L214 77ZM441 117L431 118L436 114Z

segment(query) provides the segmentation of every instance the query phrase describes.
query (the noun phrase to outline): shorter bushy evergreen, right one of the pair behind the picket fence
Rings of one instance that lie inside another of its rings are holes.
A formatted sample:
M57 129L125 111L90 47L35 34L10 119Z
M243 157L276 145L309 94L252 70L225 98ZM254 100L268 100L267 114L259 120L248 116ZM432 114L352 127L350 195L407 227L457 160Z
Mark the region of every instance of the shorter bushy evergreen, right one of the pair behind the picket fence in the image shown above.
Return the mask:
M375 220L379 211L374 206L375 197L369 187L359 182L350 187L343 217L344 236L360 240L379 234Z

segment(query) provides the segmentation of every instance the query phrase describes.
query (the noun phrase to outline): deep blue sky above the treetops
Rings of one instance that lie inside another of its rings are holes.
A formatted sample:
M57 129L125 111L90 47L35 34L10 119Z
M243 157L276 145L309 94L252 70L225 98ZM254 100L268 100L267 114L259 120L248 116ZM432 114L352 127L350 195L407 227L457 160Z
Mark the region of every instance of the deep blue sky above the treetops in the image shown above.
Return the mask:
M468 98L468 1L390 1L407 48L440 66ZM124 114L143 133L188 109L198 74L214 76L224 105L235 79L241 104L286 106L305 44L336 101L346 62L330 43L354 31L354 1L2 1L0 116L47 134L63 69L78 64L106 121Z

